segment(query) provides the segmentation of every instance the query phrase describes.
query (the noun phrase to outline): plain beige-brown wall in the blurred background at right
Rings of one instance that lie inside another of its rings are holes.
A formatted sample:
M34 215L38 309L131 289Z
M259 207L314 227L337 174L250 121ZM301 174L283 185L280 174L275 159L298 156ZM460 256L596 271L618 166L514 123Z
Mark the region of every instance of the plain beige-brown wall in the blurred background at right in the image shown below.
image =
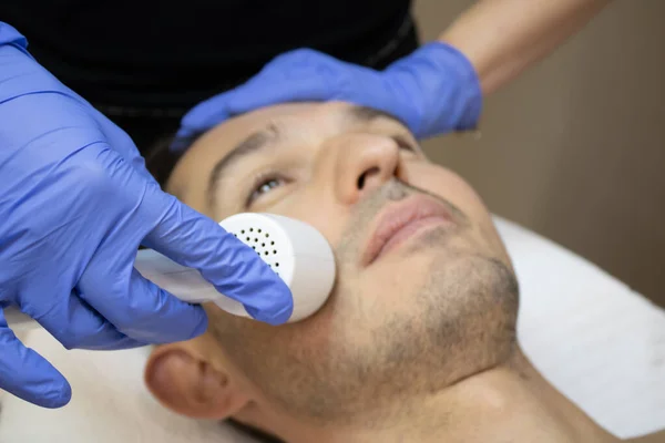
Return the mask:
M416 0L422 40L472 3ZM615 0L485 101L480 141L448 136L426 146L493 213L665 306L664 0Z

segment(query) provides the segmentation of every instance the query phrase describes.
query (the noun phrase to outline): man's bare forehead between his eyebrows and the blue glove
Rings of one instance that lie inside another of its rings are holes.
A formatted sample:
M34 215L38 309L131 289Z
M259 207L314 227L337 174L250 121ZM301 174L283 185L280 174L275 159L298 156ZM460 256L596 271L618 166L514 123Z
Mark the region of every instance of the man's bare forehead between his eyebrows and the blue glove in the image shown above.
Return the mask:
M339 127L348 103L290 103L264 107L231 119L202 135L173 169L166 190L194 209L208 214L206 189L216 163L248 135L275 123L297 131L327 133Z

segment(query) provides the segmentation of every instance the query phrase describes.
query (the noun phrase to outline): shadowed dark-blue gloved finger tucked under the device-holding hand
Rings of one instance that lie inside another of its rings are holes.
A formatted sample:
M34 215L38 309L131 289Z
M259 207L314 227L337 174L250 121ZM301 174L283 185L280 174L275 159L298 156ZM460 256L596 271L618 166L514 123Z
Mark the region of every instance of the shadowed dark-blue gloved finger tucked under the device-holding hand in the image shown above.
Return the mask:
M24 307L23 311L35 319L66 349L120 350L144 346L106 321L74 289L70 297L57 298L50 306Z

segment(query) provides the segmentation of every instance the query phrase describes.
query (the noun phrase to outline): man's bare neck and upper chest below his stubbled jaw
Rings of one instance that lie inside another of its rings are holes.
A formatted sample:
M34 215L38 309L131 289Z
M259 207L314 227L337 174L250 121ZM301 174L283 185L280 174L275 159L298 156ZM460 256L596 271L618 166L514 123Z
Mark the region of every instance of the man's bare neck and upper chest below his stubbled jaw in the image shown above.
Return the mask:
M303 419L283 416L269 420L270 427L288 443L618 441L548 383L520 351L504 365L407 400L366 427L308 426Z

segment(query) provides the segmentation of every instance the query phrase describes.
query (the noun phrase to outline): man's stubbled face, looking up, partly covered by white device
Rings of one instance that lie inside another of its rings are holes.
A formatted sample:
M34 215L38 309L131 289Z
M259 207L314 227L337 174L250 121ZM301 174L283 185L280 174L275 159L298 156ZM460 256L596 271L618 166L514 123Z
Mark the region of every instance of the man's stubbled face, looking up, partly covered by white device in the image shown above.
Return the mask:
M332 246L334 291L305 321L270 327L206 307L201 340L257 402L349 422L511 352L518 289L488 210L387 115L345 103L243 115L196 141L167 189L215 220L304 220Z

